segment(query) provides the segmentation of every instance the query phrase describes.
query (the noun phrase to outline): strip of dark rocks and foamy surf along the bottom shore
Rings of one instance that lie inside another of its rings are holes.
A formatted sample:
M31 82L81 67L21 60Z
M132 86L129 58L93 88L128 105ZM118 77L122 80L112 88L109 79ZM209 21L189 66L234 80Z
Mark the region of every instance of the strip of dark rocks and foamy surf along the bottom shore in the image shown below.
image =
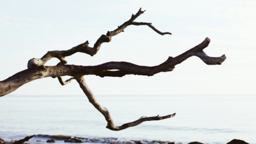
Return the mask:
M120 139L120 138L85 138L69 135L47 135L37 134L26 136L20 140L7 141L0 137L0 144L46 144L46 143L110 143L110 144L209 144L219 142L175 142L175 141L163 141L163 140L131 140L131 139ZM220 143L221 144L221 143ZM241 139L231 139L227 144L249 144Z

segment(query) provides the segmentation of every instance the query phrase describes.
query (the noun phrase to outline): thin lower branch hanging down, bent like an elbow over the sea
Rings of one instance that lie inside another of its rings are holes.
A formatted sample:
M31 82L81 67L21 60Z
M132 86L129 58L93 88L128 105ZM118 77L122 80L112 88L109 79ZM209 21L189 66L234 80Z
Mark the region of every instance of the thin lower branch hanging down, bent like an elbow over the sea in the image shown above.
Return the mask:
M91 104L99 110L100 113L102 113L107 121L107 126L106 128L111 129L111 130L122 130L128 127L132 127L132 126L136 126L138 124L141 124L144 121L151 121L151 120L162 120L162 119L166 119L166 118L170 118L175 116L176 113L173 114L169 114L166 116L152 116L152 117L147 117L147 116L142 116L141 118L139 118L138 120L135 120L133 122L129 122L129 123L125 123L122 124L121 126L115 126L114 125L114 121L111 118L110 112L108 111L108 109L106 107L103 107L98 100L94 97L94 94L92 93L91 89L88 87L88 85L86 84L84 77L83 76L77 76L75 77L76 81L79 83L80 87L82 88L83 92L85 93L85 95L88 97L89 101L91 102Z

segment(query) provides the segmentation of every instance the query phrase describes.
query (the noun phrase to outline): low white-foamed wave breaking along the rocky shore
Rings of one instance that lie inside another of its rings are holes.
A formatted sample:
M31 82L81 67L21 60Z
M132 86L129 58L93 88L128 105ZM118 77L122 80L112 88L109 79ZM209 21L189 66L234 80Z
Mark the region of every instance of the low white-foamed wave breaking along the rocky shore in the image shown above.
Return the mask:
M85 137L77 137L77 136L69 136L69 135L48 135L48 134L37 134L34 137L42 137L42 138L52 138L55 140L65 140L70 138L79 138L82 139L83 142L93 142L93 143L120 143L120 144L135 144L138 141L141 141L143 144L167 144L173 141L162 141L162 140L131 140L131 139L121 139L115 137L107 137L107 138L85 138Z

